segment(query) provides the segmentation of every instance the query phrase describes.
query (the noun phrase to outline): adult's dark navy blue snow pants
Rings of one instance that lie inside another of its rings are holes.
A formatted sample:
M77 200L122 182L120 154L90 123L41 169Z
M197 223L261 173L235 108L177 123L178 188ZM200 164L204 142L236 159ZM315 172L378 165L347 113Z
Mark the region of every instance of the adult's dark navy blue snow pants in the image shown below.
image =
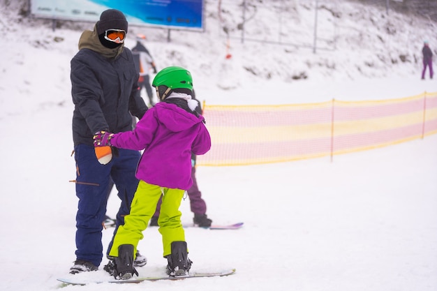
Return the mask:
M117 187L121 200L117 213L117 232L129 214L133 195L138 187L135 171L140 152L118 149L107 165L98 163L94 147L80 144L75 147L76 195L79 198L76 215L76 258L92 262L97 267L103 258L102 221L105 218L110 179ZM113 237L112 237L113 239ZM108 250L112 246L112 240Z

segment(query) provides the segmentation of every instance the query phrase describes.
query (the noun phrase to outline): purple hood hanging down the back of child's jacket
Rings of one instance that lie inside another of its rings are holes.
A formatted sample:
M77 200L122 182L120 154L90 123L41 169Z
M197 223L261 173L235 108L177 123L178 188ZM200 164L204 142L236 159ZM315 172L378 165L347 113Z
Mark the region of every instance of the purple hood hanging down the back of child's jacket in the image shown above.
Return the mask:
M186 130L204 120L202 116L196 117L175 104L160 102L154 106L154 110L161 124L173 132Z

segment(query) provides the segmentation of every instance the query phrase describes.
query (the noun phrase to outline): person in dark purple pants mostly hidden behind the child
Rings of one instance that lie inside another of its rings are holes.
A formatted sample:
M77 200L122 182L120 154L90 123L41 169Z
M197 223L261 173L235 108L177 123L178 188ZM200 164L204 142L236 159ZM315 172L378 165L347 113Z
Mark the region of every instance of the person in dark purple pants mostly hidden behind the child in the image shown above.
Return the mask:
M195 111L202 115L202 107L200 106L199 100L195 98L195 91L193 89L193 94L191 94L191 99L195 100L198 105L195 107ZM202 192L200 192L198 187L198 181L195 178L195 154L191 154L191 179L193 179L193 186L186 191L188 197L190 198L191 212L194 214L193 223L199 227L210 227L212 220L207 216L207 204L205 200L202 199ZM150 226L158 226L159 212L161 211L162 198L159 200L154 216L150 219Z

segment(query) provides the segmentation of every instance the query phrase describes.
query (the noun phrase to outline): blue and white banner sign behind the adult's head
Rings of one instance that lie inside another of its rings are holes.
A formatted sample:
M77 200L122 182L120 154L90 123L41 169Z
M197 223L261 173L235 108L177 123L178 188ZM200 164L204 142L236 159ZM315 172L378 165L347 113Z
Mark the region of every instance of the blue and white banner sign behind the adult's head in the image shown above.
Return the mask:
M36 17L96 22L109 8L129 24L203 29L204 0L31 0Z

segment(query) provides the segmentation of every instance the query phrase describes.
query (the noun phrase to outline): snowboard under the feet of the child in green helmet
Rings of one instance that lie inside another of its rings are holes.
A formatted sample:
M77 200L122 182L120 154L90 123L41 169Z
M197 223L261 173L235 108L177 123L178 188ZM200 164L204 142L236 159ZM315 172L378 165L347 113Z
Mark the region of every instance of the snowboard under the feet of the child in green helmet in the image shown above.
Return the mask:
M87 284L100 284L100 283L117 283L117 284L126 284L126 283L141 283L144 281L161 281L161 280L184 280L188 278L203 278L203 277L216 277L216 276L230 276L232 274L235 274L236 269L227 269L225 271L218 271L218 272L207 272L207 273L190 273L187 276L176 276L176 277L170 277L170 276L157 276L157 277L140 277L140 278L130 278L128 280L115 280L114 278L109 277L108 281L104 280L98 280L98 281L92 281L92 280L81 280L80 278L75 278L74 276L71 276L70 278L58 278L57 281L61 281L62 283L65 283L66 285L87 285Z

